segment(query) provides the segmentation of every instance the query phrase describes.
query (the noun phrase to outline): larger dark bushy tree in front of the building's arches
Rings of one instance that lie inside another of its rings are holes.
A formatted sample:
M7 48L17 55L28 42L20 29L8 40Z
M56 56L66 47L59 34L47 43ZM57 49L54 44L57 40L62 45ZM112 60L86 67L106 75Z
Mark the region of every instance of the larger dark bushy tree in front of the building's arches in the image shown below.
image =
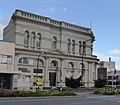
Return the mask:
M74 79L73 77L65 78L65 85L70 88L78 88L80 86L83 86L84 83L82 82L82 76L80 76L77 79Z

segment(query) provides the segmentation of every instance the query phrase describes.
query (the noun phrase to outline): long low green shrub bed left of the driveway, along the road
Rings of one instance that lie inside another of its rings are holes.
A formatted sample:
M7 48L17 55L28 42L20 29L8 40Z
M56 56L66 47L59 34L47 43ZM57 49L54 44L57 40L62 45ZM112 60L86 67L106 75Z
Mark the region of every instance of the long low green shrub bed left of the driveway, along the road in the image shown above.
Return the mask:
M0 97L39 97L39 96L71 96L76 95L70 91L2 91Z

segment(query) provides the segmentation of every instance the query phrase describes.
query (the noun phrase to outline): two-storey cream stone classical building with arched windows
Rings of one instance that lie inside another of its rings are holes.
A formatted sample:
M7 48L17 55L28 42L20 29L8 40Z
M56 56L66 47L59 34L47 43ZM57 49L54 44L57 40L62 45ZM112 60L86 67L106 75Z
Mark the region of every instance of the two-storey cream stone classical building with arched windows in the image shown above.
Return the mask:
M85 87L97 78L99 59L92 54L89 28L16 10L4 28L3 40L15 43L13 89L65 87L65 77L83 75Z

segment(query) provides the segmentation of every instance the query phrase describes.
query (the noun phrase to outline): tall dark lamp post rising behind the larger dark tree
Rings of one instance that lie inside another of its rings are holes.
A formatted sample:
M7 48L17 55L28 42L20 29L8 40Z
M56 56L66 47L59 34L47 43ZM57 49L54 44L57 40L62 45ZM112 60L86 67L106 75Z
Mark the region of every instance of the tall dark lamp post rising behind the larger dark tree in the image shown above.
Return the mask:
M83 59L84 59L84 54L85 54L85 51L84 51L84 48L86 47L86 42L88 42L88 41L91 41L91 42L93 42L93 41L95 41L95 39L94 39L94 37L92 38L92 39L88 39L88 40L85 40L85 41L82 41L82 83L83 83L83 75L84 75L84 72L85 72L85 69L84 69L84 64L83 64Z

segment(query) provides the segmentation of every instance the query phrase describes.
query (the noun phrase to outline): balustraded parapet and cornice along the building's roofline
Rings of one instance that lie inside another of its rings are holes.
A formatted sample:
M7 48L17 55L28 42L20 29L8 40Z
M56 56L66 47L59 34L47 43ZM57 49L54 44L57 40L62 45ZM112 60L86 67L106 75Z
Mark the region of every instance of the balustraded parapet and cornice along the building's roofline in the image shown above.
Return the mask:
M12 18L21 20L21 21L31 22L33 24L43 25L46 27L53 27L54 29L59 29L59 30L62 29L64 31L93 36L93 33L90 28L85 28L78 25L73 25L70 23L53 20L48 17L32 14L32 13L21 11L21 10L16 10Z

